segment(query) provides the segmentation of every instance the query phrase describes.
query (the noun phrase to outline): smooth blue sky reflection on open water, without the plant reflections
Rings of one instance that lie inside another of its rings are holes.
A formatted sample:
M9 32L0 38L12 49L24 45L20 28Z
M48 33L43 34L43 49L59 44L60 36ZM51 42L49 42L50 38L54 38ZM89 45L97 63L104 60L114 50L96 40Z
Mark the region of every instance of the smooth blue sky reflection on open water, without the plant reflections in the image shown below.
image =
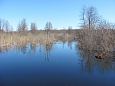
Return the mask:
M0 83L16 85L25 82L26 85L37 83L40 85L115 85L115 72L113 70L101 72L94 68L92 72L82 70L80 55L76 50L76 43L72 49L68 43L59 42L53 45L49 52L49 60L45 60L45 48L36 47L36 52L27 49L26 54L19 50L10 49L0 54ZM85 67L85 66L84 66ZM95 67L95 66L94 66ZM27 84L28 83L28 84ZM51 84L52 83L52 84Z

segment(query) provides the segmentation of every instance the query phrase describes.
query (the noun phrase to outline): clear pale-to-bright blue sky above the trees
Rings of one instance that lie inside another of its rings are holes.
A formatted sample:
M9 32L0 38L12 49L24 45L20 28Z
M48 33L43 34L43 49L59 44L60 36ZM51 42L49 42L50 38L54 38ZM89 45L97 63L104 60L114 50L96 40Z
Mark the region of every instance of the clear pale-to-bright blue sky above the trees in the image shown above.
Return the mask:
M83 6L94 6L104 19L115 23L115 0L0 0L0 18L17 27L26 18L28 26L36 22L44 28L51 21L54 28L79 28Z

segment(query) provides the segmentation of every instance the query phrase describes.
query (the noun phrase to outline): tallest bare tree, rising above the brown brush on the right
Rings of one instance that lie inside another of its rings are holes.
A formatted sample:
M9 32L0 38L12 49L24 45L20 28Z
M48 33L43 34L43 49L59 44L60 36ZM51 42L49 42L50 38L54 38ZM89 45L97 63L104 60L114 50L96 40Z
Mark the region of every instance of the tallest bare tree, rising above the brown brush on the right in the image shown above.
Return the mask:
M99 21L99 16L97 14L96 8L88 7L83 8L82 12L82 22L83 27L87 27L88 29L94 29Z

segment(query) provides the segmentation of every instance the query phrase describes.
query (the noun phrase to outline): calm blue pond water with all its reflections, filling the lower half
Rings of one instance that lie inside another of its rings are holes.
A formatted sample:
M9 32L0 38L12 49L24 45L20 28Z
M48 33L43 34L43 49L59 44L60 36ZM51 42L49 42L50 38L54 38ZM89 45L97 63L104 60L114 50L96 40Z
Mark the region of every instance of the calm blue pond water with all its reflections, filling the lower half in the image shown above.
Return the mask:
M0 86L115 86L114 61L76 42L16 46L0 53Z

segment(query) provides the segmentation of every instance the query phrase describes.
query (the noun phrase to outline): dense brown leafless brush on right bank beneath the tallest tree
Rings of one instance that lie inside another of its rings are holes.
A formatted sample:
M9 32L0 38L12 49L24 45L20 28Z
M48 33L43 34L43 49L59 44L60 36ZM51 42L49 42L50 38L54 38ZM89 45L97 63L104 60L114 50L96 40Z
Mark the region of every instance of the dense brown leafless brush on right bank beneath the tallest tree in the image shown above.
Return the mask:
M80 48L85 50L104 52L115 50L114 29L82 29L77 37Z

